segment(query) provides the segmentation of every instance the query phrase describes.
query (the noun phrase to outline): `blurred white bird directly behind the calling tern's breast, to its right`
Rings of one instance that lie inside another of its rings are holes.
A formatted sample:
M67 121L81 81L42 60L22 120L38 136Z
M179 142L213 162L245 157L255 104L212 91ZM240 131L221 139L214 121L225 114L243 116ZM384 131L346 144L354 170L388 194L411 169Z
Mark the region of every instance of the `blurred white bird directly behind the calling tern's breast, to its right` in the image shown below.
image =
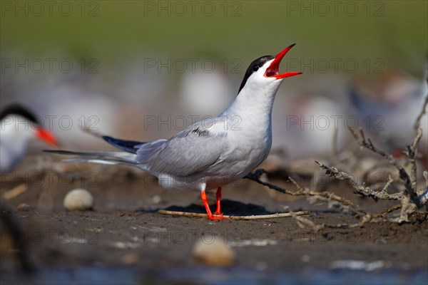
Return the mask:
M345 146L348 131L340 104L322 96L300 94L278 99L282 100L282 112L275 113L274 123L281 131L274 134L274 146L285 149L287 157L330 157L335 139L337 150Z

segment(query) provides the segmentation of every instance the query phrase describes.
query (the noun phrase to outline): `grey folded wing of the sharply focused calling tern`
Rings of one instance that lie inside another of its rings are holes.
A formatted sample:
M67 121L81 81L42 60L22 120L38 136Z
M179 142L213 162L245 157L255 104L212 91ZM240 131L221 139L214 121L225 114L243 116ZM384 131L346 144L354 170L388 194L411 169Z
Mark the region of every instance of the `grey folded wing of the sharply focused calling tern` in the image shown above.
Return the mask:
M226 133L212 133L198 125L190 126L169 140L142 145L137 162L153 173L174 176L204 172L220 160L228 147Z

